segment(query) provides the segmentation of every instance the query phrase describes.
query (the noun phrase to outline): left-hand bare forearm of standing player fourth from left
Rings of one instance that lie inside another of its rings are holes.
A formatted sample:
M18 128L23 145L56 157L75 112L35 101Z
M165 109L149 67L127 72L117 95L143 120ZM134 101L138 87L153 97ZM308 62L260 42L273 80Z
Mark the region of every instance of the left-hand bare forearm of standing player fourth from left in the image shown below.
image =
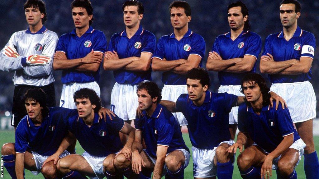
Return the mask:
M171 70L177 66L180 66L186 62L187 62L187 60L185 60L185 59L167 61L165 59L160 60L158 58L153 58L152 59L152 70L153 71L169 71L169 70Z

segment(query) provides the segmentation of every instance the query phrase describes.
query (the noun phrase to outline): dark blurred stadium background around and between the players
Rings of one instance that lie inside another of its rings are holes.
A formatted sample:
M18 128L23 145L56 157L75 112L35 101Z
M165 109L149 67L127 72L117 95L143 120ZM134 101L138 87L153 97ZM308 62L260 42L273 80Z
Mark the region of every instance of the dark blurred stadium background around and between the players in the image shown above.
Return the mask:
M70 32L74 29L74 24L71 17L70 4L71 0L44 0L46 2L48 20L45 26L61 36L64 33ZM211 50L215 38L219 34L229 32L229 25L227 22L227 5L234 0L186 0L192 9L192 19L189 23L189 28L200 35L202 35L206 42L206 53L203 58L203 67L205 67L207 54ZM7 43L12 33L24 30L28 27L23 10L24 0L0 0L0 47L3 48ZM108 42L111 36L124 30L122 4L124 0L91 0L93 4L93 14L95 20L93 28L104 32ZM144 17L141 25L155 34L157 39L161 36L172 33L173 28L170 24L170 17L168 6L172 1L168 0L141 0L144 5ZM279 3L280 0L242 0L249 9L249 22L251 24L251 31L258 33L264 43L266 37L271 33L277 33L282 30L282 25L279 19ZM301 16L298 19L298 25L301 29L312 32L316 41L315 59L312 63L312 80L310 81L315 89L317 105L319 100L319 0L300 0ZM259 64L259 60L257 61ZM259 72L259 65L257 68ZM62 83L61 71L54 71L56 79L56 105L59 105ZM209 72L211 77L210 90L218 91L219 81L217 72ZM0 71L0 144L14 141L13 132L5 131L12 129L10 125L11 106L13 98L14 85L12 82L13 73ZM267 77L264 75L264 77ZM152 72L152 79L160 87L163 87L161 82L161 73ZM101 98L104 106L109 107L110 95L115 81L113 72L104 71L100 68L100 89ZM270 85L270 84L269 84ZM317 108L317 115L319 114ZM318 121L315 120L314 132L318 131ZM185 135L185 134L184 134ZM188 137L185 140L189 140ZM316 150L319 151L319 137L315 137ZM190 144L188 144L190 146ZM189 178L192 173L192 165L188 167ZM298 168L299 173L303 173L303 164ZM6 171L5 171L6 172ZM234 178L238 174L238 169L235 166ZM26 172L28 174L29 172ZM5 175L8 176L8 175ZM29 175L32 177L32 175ZM186 175L185 175L186 176ZM237 175L239 177L239 175ZM299 175L303 178L304 174ZM6 178L6 177L5 177ZM28 177L27 177L28 178ZM33 178L33 177L32 177Z

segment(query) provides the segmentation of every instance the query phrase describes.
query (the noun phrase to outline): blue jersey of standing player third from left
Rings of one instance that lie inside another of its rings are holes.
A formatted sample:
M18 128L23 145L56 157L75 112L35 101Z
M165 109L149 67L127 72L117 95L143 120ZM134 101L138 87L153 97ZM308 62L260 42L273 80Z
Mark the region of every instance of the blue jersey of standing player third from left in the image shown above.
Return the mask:
M108 51L115 51L120 59L128 57L141 57L142 53L154 53L156 45L155 35L144 30L140 25L137 32L130 39L126 36L126 31L115 33L110 40ZM118 83L135 85L144 80L152 80L152 69L147 71L129 71L125 69L114 70L113 75Z

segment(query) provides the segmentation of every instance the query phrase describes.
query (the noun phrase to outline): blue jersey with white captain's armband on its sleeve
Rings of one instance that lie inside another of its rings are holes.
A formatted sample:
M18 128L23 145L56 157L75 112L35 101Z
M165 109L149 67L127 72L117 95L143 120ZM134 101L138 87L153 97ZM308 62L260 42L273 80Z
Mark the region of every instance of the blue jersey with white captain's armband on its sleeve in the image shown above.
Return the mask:
M263 49L263 55L271 54L274 61L286 61L291 59L300 60L301 57L314 59L316 49L316 40L314 34L303 31L297 26L293 37L287 41L284 33L275 33L267 37ZM268 75L272 83L292 83L304 82L311 79L311 68L308 73L299 75Z

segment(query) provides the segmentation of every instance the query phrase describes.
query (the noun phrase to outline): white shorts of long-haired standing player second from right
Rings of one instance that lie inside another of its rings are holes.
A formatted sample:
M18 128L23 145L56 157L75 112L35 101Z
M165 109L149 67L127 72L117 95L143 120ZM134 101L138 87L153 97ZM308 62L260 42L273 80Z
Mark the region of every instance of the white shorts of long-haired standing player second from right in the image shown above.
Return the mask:
M220 85L218 92L219 93L228 93L233 94L236 96L245 96L240 92L240 85ZM235 106L232 108L232 110L229 113L229 124L237 124L237 113L238 113L238 106Z

